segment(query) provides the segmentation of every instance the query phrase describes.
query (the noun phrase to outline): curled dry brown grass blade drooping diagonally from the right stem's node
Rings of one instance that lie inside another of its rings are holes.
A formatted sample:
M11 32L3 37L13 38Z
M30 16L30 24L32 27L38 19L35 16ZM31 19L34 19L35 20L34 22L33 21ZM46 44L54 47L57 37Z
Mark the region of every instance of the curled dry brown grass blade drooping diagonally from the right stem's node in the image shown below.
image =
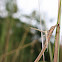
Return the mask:
M55 26L52 26L48 32L47 38L48 38L48 42L50 41L50 38L52 36L52 32L54 31L55 27L57 26L57 24ZM47 44L48 42L45 42L44 48L41 50L40 54L38 55L38 57L36 58L36 60L34 62L38 62L41 58L41 56L43 55L43 53L45 52L46 48L47 48Z

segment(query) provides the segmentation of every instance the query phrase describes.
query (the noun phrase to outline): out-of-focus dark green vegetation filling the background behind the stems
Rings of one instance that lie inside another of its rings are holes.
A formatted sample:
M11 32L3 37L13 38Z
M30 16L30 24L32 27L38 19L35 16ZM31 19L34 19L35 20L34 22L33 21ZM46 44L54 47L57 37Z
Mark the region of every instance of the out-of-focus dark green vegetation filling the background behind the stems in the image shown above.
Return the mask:
M4 16L4 10L0 11L0 62L34 62L42 49L41 33L30 27L38 28L40 25L39 12L34 10L29 15L20 14L19 19L14 16L18 12L16 1L6 0L4 4L7 15ZM23 22L23 20L26 22ZM31 20L36 25L33 25ZM44 19L41 20L41 24L42 30L46 30ZM51 39L53 38L54 36L51 37ZM51 48L54 53L52 43ZM41 61L43 61L42 57ZM48 52L45 51L46 61L50 62L49 49ZM60 45L60 62L62 62L62 45Z

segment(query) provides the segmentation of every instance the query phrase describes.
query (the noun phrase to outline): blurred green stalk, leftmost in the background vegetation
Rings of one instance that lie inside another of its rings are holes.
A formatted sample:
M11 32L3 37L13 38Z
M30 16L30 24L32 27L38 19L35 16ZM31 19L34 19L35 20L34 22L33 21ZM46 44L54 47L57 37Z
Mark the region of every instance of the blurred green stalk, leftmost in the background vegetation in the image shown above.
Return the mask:
M1 35L1 50L4 47L6 33L7 33L7 20L5 20L3 23L2 35ZM4 50L4 53L5 53L5 50ZM3 62L5 61L4 58L2 58L2 60L3 60ZM0 60L0 62L2 62L2 61Z

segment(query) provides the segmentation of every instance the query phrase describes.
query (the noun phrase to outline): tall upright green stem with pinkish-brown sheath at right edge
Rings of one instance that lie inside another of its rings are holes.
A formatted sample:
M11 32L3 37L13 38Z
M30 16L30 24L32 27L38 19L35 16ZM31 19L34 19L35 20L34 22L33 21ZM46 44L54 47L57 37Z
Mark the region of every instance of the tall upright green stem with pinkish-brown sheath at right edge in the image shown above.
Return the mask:
M56 29L54 62L59 62L60 18L61 18L61 0L59 0L58 2L58 20L57 20L58 26Z

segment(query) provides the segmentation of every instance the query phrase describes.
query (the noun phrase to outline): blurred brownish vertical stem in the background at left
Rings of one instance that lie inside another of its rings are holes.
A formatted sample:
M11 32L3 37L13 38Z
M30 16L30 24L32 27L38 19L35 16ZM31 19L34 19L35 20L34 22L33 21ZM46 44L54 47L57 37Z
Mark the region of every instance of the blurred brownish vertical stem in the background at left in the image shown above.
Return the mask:
M10 29L11 29L11 24L9 22L9 20L7 20L8 22L8 27L7 27L7 35L6 35L6 40L5 40L5 53L8 52L8 47L9 47L9 39L10 39ZM7 62L7 57L5 57L5 62Z

